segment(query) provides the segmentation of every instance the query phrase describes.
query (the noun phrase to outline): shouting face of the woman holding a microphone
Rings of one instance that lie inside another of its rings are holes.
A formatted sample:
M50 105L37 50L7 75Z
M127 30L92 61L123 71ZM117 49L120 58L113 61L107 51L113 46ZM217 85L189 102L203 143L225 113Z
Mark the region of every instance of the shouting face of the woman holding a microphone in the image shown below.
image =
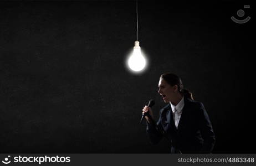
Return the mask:
M177 89L176 85L171 86L164 79L160 79L158 83L158 93L162 96L164 102L170 102L173 100L173 96Z

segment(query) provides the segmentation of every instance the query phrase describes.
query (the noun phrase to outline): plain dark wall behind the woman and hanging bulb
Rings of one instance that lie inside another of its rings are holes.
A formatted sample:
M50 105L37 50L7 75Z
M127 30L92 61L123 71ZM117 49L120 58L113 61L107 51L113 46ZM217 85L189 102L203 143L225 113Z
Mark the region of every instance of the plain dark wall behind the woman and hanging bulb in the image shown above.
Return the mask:
M135 1L0 2L0 153L170 153L140 125L150 98L156 118L165 106L167 71L203 102L213 153L255 153L254 15L243 5L139 1L149 65L135 75ZM234 23L238 9L252 19Z

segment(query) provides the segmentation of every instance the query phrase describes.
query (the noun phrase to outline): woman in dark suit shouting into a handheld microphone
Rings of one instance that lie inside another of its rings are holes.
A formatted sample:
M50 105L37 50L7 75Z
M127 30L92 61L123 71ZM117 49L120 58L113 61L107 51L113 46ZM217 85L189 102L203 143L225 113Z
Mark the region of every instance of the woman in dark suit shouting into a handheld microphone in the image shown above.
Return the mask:
M215 136L203 104L194 101L191 92L183 89L180 77L170 72L161 75L158 88L168 105L160 110L157 123L150 107L142 110L148 115L150 142L156 144L166 137L172 145L171 153L211 153Z

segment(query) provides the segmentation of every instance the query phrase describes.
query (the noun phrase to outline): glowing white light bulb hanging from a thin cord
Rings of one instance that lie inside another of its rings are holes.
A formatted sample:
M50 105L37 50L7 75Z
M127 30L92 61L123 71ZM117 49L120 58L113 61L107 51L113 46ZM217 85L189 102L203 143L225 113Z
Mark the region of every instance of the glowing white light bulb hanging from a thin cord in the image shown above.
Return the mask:
M143 70L146 66L146 59L141 54L139 41L135 41L134 53L130 56L128 65L131 70L137 72Z

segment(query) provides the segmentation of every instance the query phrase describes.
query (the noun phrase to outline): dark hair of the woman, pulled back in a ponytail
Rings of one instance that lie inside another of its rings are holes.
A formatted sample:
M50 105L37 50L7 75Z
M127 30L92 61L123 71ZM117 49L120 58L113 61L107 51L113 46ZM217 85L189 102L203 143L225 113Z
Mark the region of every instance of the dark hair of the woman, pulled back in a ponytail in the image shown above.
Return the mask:
M171 72L166 72L160 76L160 79L165 80L171 86L177 85L178 91L181 92L181 94L183 94L186 98L194 100L192 93L186 89L183 89L181 78L177 75Z

